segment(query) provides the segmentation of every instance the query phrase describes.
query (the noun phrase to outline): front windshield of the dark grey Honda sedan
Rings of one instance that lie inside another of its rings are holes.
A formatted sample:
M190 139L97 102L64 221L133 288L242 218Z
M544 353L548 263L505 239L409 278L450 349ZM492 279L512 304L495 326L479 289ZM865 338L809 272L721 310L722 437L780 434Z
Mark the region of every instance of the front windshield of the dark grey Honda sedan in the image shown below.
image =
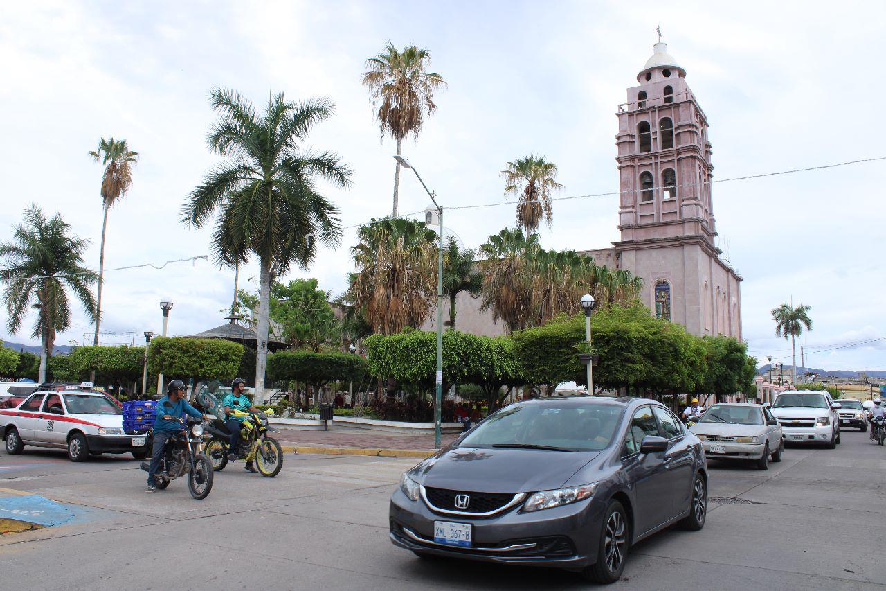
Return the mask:
M524 447L590 452L610 445L622 406L557 402L515 404L481 422L461 447Z

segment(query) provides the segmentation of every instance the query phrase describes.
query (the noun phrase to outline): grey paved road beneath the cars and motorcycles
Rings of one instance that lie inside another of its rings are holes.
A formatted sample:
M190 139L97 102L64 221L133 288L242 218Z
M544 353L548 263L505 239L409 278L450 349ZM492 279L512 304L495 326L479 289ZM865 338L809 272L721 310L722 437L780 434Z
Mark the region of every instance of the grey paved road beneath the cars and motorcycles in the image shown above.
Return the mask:
M387 500L412 463L290 454L266 479L237 462L196 501L179 481L144 494L136 461L0 452L0 495L41 494L73 514L0 537L0 579L17 591L587 588L568 572L426 563L392 547ZM766 472L712 463L711 496L751 502L711 504L702 532L642 542L611 588L886 588L884 483L886 449L858 432L835 451L789 449Z

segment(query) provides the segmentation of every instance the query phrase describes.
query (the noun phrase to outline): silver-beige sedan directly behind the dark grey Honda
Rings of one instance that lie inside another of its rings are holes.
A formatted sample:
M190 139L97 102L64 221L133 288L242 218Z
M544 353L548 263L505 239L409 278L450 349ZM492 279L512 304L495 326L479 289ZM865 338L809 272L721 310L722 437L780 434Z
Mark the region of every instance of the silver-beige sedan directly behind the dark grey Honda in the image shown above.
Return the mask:
M769 469L769 460L781 461L784 442L781 425L768 408L755 404L711 406L689 428L702 440L704 453L717 460L753 460Z

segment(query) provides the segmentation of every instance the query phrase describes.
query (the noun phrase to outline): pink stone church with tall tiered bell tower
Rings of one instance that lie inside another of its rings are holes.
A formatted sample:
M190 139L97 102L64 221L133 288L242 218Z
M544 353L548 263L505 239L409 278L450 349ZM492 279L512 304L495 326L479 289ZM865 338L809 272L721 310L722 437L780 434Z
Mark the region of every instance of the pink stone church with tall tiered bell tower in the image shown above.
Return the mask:
M707 117L665 43L656 43L637 82L618 106L620 240L579 252L641 277L641 300L652 314L694 335L741 339L742 277L714 244ZM459 294L456 325L478 334L505 332L478 308L479 300ZM433 319L424 327L433 327Z

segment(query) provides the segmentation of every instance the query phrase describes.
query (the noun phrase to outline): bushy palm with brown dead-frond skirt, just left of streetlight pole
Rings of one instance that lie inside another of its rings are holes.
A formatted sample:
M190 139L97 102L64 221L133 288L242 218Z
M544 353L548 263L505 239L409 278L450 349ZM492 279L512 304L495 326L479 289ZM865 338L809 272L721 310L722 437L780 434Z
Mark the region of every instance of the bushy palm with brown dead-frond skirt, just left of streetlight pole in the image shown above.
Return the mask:
M376 334L420 327L437 296L437 232L424 222L385 218L361 226L357 240L347 299Z

